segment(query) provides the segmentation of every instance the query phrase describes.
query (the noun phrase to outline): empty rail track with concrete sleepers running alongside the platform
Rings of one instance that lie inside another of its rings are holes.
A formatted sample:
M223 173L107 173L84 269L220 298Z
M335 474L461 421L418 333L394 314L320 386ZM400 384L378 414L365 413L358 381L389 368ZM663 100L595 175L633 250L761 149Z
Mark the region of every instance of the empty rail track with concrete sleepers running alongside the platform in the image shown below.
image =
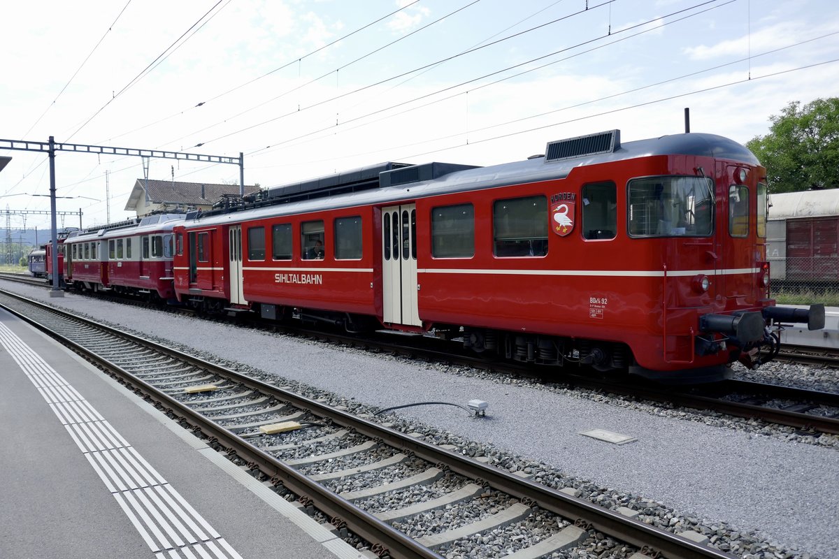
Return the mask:
M482 534L515 526L517 535L499 556L535 559L606 535L650 556L731 557L329 402L19 296L0 295L0 303L381 556L437 558L452 549L469 556ZM399 499L406 492L412 496ZM397 497L378 499L383 494Z

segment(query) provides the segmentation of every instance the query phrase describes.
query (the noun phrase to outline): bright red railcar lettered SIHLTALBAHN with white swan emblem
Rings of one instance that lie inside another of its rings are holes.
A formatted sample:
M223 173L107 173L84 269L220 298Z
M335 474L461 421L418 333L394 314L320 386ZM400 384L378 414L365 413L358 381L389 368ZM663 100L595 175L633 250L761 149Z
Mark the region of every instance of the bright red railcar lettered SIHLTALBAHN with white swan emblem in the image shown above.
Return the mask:
M167 223L175 298L208 312L700 380L771 359L780 322L823 326L823 306L769 297L766 206L765 169L737 142L614 130L486 168L382 163Z

